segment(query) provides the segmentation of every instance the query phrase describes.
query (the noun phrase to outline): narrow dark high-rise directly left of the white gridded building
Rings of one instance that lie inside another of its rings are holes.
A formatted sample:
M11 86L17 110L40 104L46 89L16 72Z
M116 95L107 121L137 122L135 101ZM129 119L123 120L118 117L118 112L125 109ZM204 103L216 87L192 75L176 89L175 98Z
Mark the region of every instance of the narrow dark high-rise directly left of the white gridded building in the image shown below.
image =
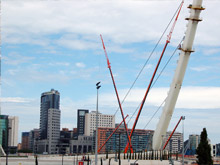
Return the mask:
M89 113L89 110L78 109L77 112L77 134L84 135L85 130L85 115Z

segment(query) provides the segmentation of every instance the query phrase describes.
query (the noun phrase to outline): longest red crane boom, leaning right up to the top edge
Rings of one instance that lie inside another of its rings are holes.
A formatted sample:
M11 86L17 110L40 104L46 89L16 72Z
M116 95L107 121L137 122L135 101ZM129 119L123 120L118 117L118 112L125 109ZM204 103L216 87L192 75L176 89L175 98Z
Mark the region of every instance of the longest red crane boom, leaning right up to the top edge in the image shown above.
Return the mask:
M154 73L153 73L153 75L152 75L152 77L151 77L150 83L149 83L149 85L148 85L148 88L147 88L146 93L145 93L145 95L144 95L144 98L143 98L143 100L142 100L141 106L140 106L140 108L139 108L137 117L136 117L136 119L135 119L135 121L134 121L132 130L131 130L131 133L130 133L130 138L132 137L132 134L133 134L133 132L134 132L134 130L135 130L135 127L136 127L136 125L137 125L138 119L139 119L139 117L140 117L141 111L142 111L142 109L143 109L144 103L145 103L146 98L147 98L147 95L148 95L148 93L149 93L149 91L150 91L152 82L153 82L154 77L155 77L155 75L156 75L157 69L158 69L158 67L159 67L159 65L160 65L160 62L161 62L162 57L163 57L163 55L164 55L164 52L166 51L167 45L170 43L171 36L172 36L173 30L174 30L174 27L175 27L175 25L176 25L177 19L178 19L178 17L179 17L180 11L181 11L181 9L182 9L183 3L184 3L184 0L182 0L182 2L181 2L181 4L180 4L179 11L178 11L178 13L177 13L177 15L176 15L176 18L175 18L175 20L174 20L174 23L173 23L173 25L172 25L172 27L171 27L171 30L170 30L170 32L169 32L169 35L167 36L167 40L166 40L166 43L165 43L165 45L164 45L163 51L162 51L162 53L161 53L161 55L160 55L159 61L158 61L157 65L156 65L156 68L155 68ZM128 151L128 146L129 146L129 143L126 145L125 150L124 150L124 153L127 153L127 151Z

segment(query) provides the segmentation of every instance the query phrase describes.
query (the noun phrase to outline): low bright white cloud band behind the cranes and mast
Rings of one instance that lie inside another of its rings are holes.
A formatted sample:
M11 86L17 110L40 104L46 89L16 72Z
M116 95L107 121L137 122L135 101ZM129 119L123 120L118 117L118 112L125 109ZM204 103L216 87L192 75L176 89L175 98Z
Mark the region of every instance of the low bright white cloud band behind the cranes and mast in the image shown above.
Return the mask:
M127 97L123 107L137 107L142 101L146 89L133 89ZM148 94L145 106L159 106L167 97L169 88L153 88ZM125 90L119 90L122 101ZM114 93L100 94L100 106L118 107ZM176 108L185 109L215 109L220 108L220 87L182 87ZM94 98L90 100L95 102Z

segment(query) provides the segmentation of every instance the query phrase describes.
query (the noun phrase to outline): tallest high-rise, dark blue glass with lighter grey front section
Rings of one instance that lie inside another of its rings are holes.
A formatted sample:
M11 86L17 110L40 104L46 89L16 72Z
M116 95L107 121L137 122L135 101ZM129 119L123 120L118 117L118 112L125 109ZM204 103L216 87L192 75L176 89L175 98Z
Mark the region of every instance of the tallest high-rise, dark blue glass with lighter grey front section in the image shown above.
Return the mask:
M60 137L60 93L51 89L41 95L38 152L58 153Z

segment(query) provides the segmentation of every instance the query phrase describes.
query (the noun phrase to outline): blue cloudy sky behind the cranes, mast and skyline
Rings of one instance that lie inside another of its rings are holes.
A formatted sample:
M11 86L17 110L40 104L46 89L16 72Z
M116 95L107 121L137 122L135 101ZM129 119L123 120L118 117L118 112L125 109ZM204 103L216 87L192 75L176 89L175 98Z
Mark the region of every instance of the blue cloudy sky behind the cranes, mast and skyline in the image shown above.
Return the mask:
M52 88L60 92L61 128L77 126L77 109L115 114L118 103L100 40L102 34L112 72L123 100L181 0L2 0L1 2L1 113L19 117L21 132L39 128L40 96ZM169 64L150 90L137 128L156 128L177 66L175 51L186 31L185 0L171 43L158 73ZM204 0L183 85L168 130L185 116L184 138L205 127L212 144L220 143L220 5ZM129 117L143 99L162 52L166 36L122 104ZM132 127L136 114L128 123ZM146 126L149 120L151 122ZM116 113L116 122L122 120ZM177 128L182 132L182 126Z

